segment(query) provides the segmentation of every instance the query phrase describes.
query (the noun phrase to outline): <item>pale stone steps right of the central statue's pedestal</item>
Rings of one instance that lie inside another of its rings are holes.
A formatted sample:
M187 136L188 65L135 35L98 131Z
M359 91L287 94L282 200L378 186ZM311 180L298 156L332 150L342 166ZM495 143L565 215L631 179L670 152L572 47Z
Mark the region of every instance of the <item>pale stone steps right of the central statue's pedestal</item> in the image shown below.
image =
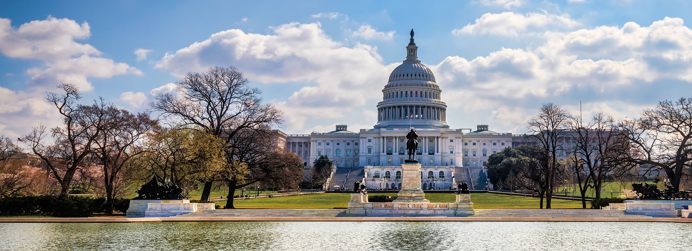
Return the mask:
M647 217L629 214L625 210L591 209L476 209L473 217ZM648 217L650 218L650 217Z

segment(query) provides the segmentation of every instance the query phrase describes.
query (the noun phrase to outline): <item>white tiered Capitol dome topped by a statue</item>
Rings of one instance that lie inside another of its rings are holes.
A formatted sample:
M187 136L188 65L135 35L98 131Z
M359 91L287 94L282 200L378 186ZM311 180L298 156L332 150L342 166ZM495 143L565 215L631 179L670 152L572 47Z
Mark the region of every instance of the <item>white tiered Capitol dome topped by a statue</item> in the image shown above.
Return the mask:
M406 60L394 68L377 103L375 128L449 128L447 105L440 99L442 90L435 74L418 60L418 46L411 40Z

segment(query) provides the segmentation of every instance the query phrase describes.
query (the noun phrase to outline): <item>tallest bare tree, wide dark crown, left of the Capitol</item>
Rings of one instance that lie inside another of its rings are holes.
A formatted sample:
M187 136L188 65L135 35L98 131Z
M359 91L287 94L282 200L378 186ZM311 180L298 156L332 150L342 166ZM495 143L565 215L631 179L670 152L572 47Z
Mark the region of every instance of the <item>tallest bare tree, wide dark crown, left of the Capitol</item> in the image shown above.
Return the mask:
M263 125L279 125L282 112L272 105L262 105L262 92L249 86L250 81L237 68L212 67L207 72L188 72L177 82L176 93L158 95L152 110L172 115L184 125L197 126L206 133L226 139L233 148L241 130L259 130ZM228 168L233 163L227 150ZM213 179L204 181L202 200L209 197Z

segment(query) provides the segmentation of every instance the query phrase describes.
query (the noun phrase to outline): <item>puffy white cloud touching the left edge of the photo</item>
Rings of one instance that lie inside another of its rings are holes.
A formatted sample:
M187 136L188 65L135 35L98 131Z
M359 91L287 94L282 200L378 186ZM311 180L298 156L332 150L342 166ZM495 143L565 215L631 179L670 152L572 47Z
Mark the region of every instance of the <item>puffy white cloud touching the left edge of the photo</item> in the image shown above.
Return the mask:
M21 136L31 126L60 123L52 106L44 100L57 84L73 83L80 90L93 90L89 78L110 78L119 74L142 74L127 63L100 57L93 46L75 40L91 36L89 23L48 17L11 25L0 18L0 53L12 59L34 59L39 65L26 70L30 79L26 90L0 88L0 128L7 136Z

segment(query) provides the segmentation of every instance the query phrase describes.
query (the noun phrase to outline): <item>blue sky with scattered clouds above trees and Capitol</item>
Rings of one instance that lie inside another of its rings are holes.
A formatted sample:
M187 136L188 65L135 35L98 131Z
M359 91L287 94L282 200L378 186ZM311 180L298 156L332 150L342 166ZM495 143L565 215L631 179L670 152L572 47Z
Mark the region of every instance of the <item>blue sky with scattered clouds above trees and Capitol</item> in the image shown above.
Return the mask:
M452 128L522 132L540 103L636 117L692 90L690 1L2 1L0 135L57 125L68 81L142 111L181 74L236 66L288 133L371 128L416 31ZM138 49L140 55L135 54ZM146 52L146 53L143 53ZM139 58L138 58L139 57ZM86 102L85 101L85 102Z

